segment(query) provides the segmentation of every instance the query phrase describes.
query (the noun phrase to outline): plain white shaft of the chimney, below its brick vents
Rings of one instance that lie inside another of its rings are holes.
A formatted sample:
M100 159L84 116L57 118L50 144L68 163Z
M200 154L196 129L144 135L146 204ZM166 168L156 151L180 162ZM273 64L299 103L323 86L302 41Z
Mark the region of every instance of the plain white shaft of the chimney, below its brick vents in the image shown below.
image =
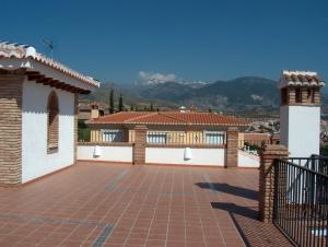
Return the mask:
M320 152L320 107L281 106L280 143L290 157L308 157Z

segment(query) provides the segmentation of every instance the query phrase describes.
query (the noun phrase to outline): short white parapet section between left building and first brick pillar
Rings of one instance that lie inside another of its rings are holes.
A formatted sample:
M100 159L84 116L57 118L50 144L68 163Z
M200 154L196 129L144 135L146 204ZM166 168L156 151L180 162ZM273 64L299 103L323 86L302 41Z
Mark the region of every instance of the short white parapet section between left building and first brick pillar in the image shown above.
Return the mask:
M132 146L99 146L98 157L94 157L94 145L78 145L78 160L132 163Z

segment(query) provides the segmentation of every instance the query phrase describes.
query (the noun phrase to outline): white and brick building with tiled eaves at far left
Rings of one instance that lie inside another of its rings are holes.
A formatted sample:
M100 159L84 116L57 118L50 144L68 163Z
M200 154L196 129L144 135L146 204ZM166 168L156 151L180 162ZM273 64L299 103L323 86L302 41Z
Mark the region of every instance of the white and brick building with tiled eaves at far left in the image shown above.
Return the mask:
M0 185L75 163L78 95L97 86L34 47L0 43Z

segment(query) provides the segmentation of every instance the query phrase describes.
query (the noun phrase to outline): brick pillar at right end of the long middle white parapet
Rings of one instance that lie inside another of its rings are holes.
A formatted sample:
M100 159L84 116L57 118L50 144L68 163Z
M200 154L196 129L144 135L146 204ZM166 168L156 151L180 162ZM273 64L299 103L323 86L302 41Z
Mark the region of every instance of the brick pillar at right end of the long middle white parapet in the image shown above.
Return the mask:
M238 128L229 127L226 131L225 168L238 166Z

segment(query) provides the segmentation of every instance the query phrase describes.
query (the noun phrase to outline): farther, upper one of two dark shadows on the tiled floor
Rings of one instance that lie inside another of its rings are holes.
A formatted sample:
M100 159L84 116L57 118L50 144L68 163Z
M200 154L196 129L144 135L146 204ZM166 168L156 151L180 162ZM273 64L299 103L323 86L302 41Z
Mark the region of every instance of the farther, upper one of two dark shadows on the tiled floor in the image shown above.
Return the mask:
M250 200L258 200L258 192L247 188L231 186L222 183L197 183L196 185L202 189L211 189L214 191L244 197Z

